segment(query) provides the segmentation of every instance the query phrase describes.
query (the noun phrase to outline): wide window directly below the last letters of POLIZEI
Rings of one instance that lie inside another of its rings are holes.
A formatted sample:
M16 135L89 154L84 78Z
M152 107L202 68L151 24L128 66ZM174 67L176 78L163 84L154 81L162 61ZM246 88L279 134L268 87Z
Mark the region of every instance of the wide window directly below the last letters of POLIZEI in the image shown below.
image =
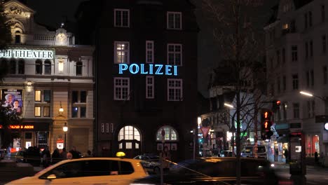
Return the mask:
M182 101L182 79L168 79L168 101Z

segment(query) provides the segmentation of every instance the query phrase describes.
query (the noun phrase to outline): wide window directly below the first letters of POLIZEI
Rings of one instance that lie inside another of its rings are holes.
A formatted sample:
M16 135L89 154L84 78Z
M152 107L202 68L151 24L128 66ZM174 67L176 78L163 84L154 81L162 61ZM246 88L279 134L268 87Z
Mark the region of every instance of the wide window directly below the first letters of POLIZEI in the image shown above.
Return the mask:
M130 100L130 78L114 78L114 100Z

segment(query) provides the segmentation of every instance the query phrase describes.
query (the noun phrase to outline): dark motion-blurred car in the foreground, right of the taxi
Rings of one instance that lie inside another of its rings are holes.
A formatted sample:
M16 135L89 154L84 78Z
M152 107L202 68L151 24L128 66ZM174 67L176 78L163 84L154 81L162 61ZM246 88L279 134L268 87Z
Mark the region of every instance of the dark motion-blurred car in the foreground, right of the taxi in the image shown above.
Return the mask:
M270 163L262 158L240 158L241 184L275 185L286 183L289 179L280 179ZM185 160L173 165L167 174L163 175L163 184L235 184L236 158L200 158ZM131 185L160 184L159 175L151 175L137 179Z

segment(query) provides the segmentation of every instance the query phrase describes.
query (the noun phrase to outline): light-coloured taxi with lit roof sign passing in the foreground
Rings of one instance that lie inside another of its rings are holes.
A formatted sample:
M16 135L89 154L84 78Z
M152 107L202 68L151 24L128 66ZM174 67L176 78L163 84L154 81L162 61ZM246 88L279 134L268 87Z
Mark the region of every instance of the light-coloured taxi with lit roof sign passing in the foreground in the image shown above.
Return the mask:
M78 158L62 160L32 177L9 182L13 184L130 184L146 177L141 160L128 158Z

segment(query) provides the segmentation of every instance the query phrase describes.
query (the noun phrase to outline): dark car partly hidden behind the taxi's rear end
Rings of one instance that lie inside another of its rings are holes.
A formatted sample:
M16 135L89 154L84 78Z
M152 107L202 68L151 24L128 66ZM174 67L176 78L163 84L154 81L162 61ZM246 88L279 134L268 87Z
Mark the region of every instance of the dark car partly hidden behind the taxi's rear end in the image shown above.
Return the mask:
M143 160L143 167L149 172L149 174L159 174L160 173L160 158L154 155L139 155L135 156L134 159Z

